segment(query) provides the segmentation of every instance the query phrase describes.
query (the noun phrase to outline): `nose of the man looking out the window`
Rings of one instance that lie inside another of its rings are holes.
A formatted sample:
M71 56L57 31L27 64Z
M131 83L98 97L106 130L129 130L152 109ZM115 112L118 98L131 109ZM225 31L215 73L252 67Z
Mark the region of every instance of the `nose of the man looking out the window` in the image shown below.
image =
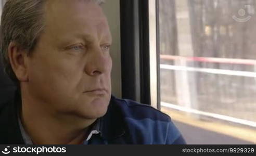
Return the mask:
M101 48L94 48L88 51L88 58L85 64L85 72L88 75L96 76L109 72L112 67L112 60L108 52Z

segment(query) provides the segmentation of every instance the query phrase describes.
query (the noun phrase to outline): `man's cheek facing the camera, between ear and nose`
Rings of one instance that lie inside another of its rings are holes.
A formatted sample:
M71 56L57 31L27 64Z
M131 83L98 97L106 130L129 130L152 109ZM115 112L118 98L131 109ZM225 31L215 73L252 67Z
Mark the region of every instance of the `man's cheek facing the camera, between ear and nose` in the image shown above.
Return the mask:
M78 68L75 63L65 59L39 58L30 64L30 81L49 89L71 89L79 81ZM61 90L60 90L61 91Z

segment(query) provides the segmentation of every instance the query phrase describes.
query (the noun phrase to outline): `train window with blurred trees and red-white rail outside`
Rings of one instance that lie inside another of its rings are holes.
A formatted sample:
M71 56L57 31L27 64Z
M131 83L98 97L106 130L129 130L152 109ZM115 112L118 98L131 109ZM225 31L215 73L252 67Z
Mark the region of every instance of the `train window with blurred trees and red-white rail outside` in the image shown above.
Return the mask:
M160 0L149 9L161 110L188 144L255 144L256 2Z

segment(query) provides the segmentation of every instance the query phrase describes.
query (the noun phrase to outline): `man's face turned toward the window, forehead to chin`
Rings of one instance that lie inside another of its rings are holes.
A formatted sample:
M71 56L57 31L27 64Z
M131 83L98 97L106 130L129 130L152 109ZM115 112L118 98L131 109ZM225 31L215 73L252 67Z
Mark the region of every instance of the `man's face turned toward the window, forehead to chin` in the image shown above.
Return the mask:
M111 34L93 2L47 1L45 28L29 57L29 94L50 113L103 116L111 96Z

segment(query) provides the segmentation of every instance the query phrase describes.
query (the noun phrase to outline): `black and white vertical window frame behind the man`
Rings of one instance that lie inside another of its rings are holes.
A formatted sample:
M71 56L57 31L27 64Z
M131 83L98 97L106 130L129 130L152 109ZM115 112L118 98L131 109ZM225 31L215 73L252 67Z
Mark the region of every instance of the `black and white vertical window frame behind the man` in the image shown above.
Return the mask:
M156 9L156 0L120 0L122 98L160 109L159 55L156 53L156 37L155 41L150 41L152 30L149 27L149 22L156 24L156 14L155 21L151 21L149 4ZM156 27L153 29L156 32ZM155 54L150 52L152 45ZM157 60L152 64L152 59Z

